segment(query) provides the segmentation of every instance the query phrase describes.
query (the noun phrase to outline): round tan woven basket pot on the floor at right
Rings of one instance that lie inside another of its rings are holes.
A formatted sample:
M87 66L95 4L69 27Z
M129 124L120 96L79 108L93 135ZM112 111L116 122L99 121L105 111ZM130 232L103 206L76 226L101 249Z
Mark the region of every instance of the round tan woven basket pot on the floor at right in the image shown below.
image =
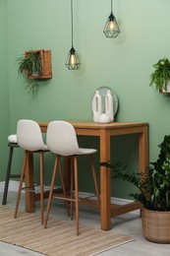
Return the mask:
M170 243L170 212L142 208L142 232L149 241Z

